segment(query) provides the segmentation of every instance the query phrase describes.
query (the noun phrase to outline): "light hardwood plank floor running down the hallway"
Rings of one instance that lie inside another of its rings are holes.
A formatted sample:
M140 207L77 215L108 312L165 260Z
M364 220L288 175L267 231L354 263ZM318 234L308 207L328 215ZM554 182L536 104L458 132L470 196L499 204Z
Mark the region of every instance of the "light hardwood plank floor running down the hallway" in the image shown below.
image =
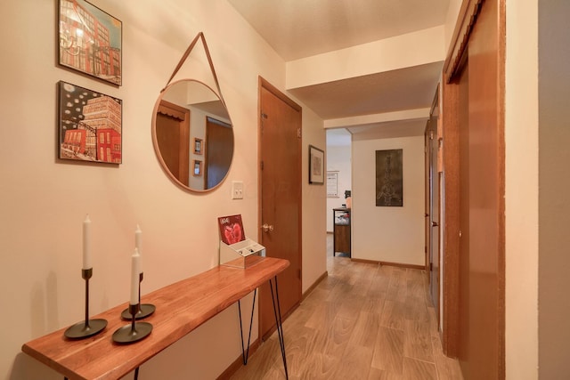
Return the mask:
M289 379L462 379L442 353L423 271L331 254L327 270L283 322ZM276 333L232 376L284 378Z

